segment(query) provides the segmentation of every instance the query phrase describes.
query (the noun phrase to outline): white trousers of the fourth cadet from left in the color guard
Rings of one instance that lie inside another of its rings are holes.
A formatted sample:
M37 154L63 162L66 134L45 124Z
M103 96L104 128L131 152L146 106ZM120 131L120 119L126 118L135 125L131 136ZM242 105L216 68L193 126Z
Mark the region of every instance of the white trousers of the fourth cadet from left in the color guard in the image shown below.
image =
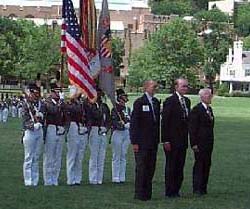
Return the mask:
M102 184L107 136L99 135L97 126L91 127L89 147L89 182L90 184Z

